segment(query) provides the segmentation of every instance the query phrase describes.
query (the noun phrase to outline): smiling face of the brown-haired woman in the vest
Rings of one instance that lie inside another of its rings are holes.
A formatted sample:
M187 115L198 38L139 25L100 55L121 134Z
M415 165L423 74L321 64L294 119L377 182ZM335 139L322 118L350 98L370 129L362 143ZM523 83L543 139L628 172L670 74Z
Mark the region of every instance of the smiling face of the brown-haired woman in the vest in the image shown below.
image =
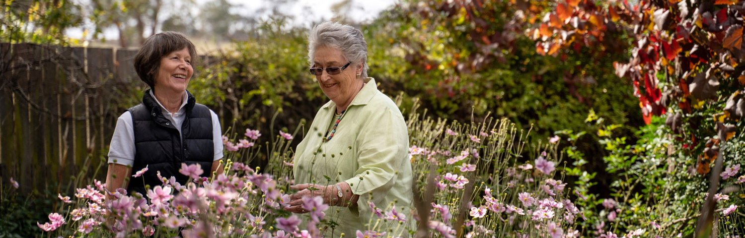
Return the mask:
M166 54L160 58L158 73L155 77L155 91L181 96L186 91L188 80L194 74L191 68L191 55L188 48Z

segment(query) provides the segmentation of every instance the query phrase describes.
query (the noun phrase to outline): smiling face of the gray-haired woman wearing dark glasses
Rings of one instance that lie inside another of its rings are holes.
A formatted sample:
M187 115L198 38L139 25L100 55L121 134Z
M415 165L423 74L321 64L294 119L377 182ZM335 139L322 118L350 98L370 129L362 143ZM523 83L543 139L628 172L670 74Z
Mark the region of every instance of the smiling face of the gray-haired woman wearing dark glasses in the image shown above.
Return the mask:
M316 49L313 59L314 67L323 68L323 73L316 76L318 85L323 89L326 97L329 97L337 105L346 108L352 102L357 92L362 88L363 80L355 74L362 71L359 62L352 62L340 74L331 75L326 72L328 67L342 67L349 62L337 48L321 46Z

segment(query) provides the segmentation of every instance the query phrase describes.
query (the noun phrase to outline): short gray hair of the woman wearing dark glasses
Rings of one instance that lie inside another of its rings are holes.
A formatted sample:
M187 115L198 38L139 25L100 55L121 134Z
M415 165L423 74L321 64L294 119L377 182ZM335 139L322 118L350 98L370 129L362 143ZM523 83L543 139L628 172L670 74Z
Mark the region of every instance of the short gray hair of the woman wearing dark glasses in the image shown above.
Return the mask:
M360 30L336 22L323 22L314 26L308 34L308 64L311 67L316 49L321 46L337 48L346 60L352 62L351 65L361 63L361 77L367 77L367 42Z

